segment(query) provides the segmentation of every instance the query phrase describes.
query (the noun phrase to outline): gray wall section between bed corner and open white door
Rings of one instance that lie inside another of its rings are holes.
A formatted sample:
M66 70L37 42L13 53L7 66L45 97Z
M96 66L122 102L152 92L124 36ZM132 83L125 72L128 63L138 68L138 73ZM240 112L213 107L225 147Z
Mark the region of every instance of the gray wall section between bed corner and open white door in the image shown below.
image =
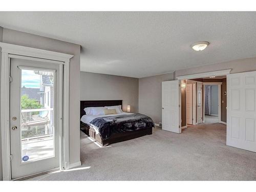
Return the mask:
M162 81L174 79L173 73L139 79L139 113L162 122Z

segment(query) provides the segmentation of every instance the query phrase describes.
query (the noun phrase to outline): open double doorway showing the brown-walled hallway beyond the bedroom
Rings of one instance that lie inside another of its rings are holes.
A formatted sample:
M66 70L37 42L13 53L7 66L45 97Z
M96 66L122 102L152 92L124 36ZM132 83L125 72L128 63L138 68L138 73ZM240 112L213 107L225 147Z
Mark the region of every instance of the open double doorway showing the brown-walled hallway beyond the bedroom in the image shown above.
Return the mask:
M181 81L182 128L201 123L226 124L226 76Z

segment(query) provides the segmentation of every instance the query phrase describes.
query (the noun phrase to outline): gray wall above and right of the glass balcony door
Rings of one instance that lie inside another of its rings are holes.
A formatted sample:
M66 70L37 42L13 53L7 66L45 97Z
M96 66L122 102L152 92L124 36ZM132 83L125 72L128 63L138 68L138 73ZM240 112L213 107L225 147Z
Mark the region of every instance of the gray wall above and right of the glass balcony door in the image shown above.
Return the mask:
M5 28L3 31L3 42L74 55L74 57L70 60L70 164L80 161L80 46L76 44L71 44L69 42L64 42L60 40L55 40L47 37L23 33Z

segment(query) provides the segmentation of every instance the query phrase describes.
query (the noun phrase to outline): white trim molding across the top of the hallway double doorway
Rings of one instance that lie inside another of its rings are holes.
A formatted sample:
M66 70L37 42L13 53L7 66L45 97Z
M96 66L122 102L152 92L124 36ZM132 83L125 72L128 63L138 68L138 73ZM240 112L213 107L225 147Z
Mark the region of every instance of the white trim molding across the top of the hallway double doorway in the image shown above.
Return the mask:
M220 70L220 71L210 71L205 73L195 73L189 75L181 75L176 76L176 79L183 80L183 79L195 79L195 78L203 78L203 77L210 77L210 76L221 76L230 74L231 69Z

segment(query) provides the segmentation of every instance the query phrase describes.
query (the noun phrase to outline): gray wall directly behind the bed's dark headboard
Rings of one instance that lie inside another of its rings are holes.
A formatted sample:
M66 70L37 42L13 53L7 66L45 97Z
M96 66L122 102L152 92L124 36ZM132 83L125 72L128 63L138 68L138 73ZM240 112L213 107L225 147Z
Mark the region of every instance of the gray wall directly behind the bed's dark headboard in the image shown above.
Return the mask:
M123 100L123 111L127 104L131 112L139 111L139 79L116 75L80 72L80 100Z

